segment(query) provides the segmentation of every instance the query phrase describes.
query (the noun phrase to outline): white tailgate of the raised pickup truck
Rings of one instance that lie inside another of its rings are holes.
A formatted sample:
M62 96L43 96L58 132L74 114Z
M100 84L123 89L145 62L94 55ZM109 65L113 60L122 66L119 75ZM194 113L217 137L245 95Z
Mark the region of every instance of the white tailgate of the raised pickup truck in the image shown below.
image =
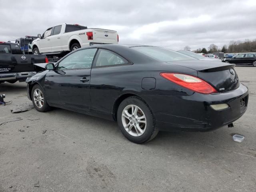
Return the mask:
M116 31L98 28L91 29L94 43L118 44Z

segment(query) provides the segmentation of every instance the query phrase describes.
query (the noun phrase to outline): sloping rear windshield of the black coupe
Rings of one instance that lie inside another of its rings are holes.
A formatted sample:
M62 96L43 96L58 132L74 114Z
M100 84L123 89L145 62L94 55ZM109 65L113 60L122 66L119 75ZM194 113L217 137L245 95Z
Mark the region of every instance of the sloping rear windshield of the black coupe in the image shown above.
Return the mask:
M172 50L161 48L161 47L140 46L140 47L132 47L132 49L135 49L147 56L150 56L154 59L164 61L164 62L193 59L184 54L180 54L176 51L172 51Z

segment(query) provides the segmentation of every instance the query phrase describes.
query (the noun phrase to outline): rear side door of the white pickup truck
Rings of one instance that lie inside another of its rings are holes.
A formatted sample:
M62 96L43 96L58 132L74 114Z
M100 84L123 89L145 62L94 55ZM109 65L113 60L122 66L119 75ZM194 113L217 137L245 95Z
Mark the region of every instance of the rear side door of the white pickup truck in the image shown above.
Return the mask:
M52 52L61 52L62 51L61 36L60 36L61 28L62 28L62 25L55 26L53 28L52 35L49 36L50 42L51 42L51 47L52 47Z

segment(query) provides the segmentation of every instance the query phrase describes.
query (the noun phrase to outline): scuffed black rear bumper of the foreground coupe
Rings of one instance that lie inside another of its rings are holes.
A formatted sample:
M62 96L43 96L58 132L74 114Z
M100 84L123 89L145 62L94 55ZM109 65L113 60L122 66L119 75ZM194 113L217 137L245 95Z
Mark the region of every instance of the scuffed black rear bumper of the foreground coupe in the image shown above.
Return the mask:
M194 93L190 96L151 96L150 107L156 124L164 131L209 131L226 126L240 118L247 109L248 88L218 94ZM241 108L244 98L245 107ZM158 102L156 102L158 101ZM214 110L212 104L228 104L224 110ZM241 110L242 109L242 110Z

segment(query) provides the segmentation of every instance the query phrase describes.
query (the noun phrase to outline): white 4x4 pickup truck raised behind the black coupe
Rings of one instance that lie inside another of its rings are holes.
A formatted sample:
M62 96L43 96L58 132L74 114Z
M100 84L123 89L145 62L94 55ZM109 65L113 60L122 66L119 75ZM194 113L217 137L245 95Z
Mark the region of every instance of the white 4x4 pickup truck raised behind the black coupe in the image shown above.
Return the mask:
M116 31L87 28L78 24L59 24L48 28L32 42L33 54L70 52L93 44L118 44Z

